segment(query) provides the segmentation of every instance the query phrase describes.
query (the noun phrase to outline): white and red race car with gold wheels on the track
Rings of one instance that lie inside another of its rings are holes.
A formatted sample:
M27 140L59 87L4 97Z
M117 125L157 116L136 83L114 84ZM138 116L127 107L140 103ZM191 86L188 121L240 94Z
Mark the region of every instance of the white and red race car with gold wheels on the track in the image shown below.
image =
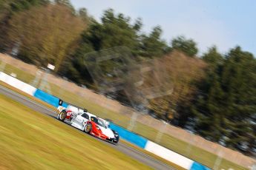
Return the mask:
M88 134L99 137L102 140L107 140L111 143L118 143L119 141L118 133L108 128L108 121L96 117L96 115L87 112L86 109L79 109L76 106L71 105L67 108L59 106L57 114L59 120Z

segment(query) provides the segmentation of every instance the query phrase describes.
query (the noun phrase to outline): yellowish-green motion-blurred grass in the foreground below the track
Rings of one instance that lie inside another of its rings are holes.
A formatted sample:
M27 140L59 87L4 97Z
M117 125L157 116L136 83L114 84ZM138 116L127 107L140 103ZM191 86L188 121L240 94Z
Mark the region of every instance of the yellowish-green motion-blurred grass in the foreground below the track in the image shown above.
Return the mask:
M149 169L4 95L0 103L0 169Z

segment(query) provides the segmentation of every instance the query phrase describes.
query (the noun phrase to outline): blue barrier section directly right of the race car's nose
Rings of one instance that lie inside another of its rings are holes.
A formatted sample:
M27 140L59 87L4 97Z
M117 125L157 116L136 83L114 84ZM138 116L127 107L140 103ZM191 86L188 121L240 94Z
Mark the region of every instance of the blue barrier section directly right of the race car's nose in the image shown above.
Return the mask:
M114 123L109 124L110 128L118 132L119 136L127 140L130 143L133 143L136 146L139 146L142 149L145 149L145 145L148 142L147 139L141 137L140 135L136 135L133 132L128 131L120 126L115 125Z

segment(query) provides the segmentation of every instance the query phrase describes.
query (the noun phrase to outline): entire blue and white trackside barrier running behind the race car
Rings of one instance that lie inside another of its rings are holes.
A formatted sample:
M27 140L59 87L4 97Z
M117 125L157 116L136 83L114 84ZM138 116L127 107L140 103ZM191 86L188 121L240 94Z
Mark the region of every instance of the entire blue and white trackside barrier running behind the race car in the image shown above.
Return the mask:
M22 81L19 81L17 78L13 78L10 75L5 74L4 72L0 72L0 81L4 81L6 84L10 86L16 87L17 89L22 90L29 95L32 95L36 98L39 98L46 103L49 103L52 106L59 106L59 98L56 98L53 95L47 94L47 92L42 91L41 89L36 89L29 84L25 84ZM68 103L63 102L62 106L68 107ZM110 123L111 129L114 129L119 133L119 136L130 143L133 143L136 146L139 146L142 149L145 149L148 152L156 154L159 157L163 157L165 160L170 161L171 163L176 164L177 166L182 167L183 169L189 170L209 170L206 166L201 165L200 163L195 162L194 160L190 160L187 157L184 157L181 154L177 154L169 149L166 149L163 146L154 143L145 137L141 137L140 135L134 134L133 132L128 131L127 129L122 128L121 126L117 126L114 123Z

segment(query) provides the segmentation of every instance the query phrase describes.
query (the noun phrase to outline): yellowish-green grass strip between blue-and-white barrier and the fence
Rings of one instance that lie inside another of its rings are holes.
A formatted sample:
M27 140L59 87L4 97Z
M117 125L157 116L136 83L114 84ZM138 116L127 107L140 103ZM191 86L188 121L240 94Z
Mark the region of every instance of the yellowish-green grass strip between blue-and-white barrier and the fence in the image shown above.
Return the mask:
M8 74L14 72L16 73L17 78L26 83L30 83L34 79L33 75L30 75L27 72L23 72L22 70L10 66L9 64L6 65L4 72ZM102 118L111 119L114 121L114 123L118 124L119 126L123 126L125 128L128 126L130 118L128 118L125 115L112 112L109 109L102 108L96 103L92 103L91 101L88 101L85 98L78 98L77 95L62 89L61 87L56 86L55 84L50 84L50 88L52 90L53 95L62 98L62 100L67 101L68 103L74 103L77 106L85 107L89 110L89 112L93 112L94 114L99 115ZM156 129L138 122L134 126L133 131L136 132L137 134L147 137L149 140L152 141L155 141L158 132ZM210 152L206 152L205 150L200 149L197 146L191 146L191 150L188 153L188 143L167 134L163 135L162 140L160 141L159 144L165 146L168 149L173 150L174 152L183 154L184 156L189 157L192 160L202 163L203 165L209 166L210 168L214 167L215 160L217 160L216 155L211 154ZM242 166L238 166L235 163L223 159L220 164L220 169L229 168L241 170L246 169L243 168Z

